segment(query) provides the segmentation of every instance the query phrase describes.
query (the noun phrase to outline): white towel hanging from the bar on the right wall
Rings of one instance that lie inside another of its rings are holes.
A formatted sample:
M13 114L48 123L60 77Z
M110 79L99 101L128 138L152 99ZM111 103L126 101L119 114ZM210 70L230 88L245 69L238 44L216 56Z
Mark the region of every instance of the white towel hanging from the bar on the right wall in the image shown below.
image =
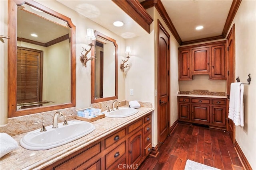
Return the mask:
M244 85L241 82L231 83L228 118L236 126L244 126Z

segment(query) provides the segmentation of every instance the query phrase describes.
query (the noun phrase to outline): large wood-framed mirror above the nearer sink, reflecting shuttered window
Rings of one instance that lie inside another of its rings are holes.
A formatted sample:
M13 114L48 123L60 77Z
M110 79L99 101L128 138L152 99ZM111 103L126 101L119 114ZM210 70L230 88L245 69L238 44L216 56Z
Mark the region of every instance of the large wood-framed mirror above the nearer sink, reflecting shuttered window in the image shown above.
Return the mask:
M34 1L9 1L8 117L76 106L75 26Z

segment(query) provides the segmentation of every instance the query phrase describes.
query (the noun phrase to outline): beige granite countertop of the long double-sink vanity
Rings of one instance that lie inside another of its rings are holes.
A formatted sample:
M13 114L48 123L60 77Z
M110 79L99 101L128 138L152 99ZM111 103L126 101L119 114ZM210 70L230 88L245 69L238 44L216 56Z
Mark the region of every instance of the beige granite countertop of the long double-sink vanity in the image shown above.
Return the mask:
M126 106L127 107L127 106ZM92 133L77 139L76 141L67 143L60 147L48 149L48 150L27 150L20 146L19 141L26 133L13 136L18 142L19 148L14 150L0 159L0 168L4 170L9 169L42 169L66 156L80 150L95 141L98 141L102 137L109 135L110 133L134 122L136 119L143 117L154 109L151 107L141 107L138 113L124 118L110 118L104 117L92 122L96 130Z

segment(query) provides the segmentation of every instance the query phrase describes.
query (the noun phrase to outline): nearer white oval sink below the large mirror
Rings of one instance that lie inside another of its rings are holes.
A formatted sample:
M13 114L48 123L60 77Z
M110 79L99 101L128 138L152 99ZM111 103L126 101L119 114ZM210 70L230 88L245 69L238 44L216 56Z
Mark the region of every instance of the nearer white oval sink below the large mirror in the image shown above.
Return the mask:
M46 150L75 141L95 130L92 123L86 121L68 121L68 125L58 123L58 128L47 126L46 132L40 129L27 133L20 139L20 145L29 150Z

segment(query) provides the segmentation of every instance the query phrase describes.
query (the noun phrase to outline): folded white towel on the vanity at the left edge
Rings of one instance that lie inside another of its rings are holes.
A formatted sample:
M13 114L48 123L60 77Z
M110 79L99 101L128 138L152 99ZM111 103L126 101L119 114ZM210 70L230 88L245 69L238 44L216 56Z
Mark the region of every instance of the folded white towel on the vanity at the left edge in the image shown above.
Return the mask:
M18 143L7 133L0 133L0 158L18 149Z

